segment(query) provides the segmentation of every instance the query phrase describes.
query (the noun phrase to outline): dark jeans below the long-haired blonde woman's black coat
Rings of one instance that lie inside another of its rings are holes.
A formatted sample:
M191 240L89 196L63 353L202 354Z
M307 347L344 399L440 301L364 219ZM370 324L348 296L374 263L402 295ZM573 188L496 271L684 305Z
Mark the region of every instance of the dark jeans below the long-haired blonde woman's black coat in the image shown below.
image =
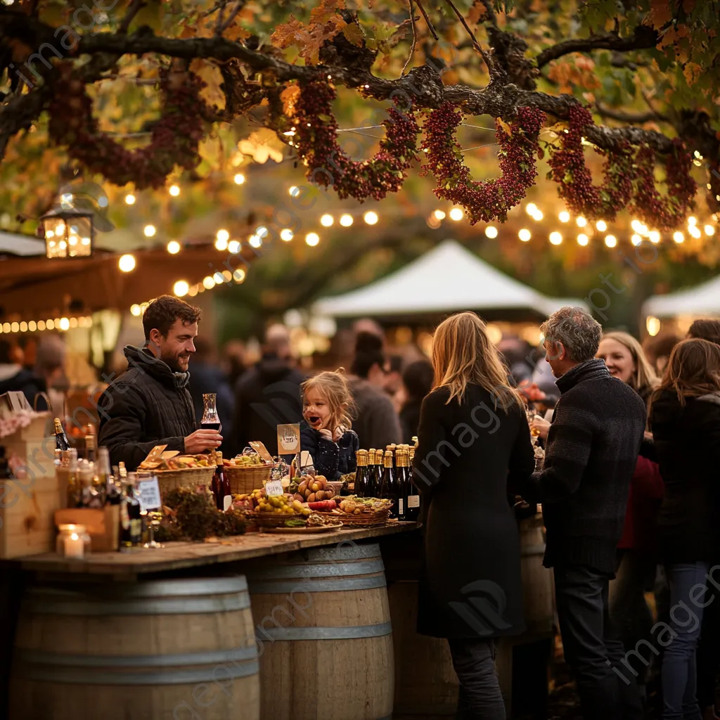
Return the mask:
M449 639L460 682L456 720L505 720L492 639Z

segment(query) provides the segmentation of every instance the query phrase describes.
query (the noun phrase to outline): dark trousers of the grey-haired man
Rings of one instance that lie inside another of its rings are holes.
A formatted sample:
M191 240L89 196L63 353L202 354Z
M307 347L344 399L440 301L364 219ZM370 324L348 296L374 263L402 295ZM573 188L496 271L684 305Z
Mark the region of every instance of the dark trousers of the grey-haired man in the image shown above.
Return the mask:
M637 675L623 664L623 644L608 611L610 576L585 565L554 568L565 660L584 720L642 720Z

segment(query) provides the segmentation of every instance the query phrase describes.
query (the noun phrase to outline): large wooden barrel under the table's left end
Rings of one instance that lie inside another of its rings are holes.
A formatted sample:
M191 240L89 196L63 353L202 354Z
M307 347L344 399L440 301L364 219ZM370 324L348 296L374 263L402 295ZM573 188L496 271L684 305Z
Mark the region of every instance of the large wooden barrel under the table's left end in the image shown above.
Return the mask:
M246 580L31 588L10 687L24 720L258 720Z

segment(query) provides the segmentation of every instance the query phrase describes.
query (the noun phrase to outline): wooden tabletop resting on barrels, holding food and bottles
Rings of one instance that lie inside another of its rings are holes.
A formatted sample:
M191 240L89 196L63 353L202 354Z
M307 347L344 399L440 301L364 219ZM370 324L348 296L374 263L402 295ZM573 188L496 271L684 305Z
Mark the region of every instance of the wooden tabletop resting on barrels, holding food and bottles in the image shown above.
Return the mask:
M379 538L415 530L417 527L417 523L397 522L376 528L348 528L312 534L248 533L212 542L170 542L155 550L139 548L131 552L95 552L81 560L67 559L48 552L6 563L42 574L74 577L110 575L112 580L132 581L137 580L138 575L153 572L237 562L309 547Z

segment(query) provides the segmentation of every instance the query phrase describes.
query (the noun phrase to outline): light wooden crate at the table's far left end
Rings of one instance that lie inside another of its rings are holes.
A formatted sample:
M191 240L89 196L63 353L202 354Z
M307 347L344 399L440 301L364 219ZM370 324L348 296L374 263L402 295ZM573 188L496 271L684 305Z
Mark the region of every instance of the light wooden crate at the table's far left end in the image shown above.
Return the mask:
M55 475L55 438L27 440L21 433L0 441L16 468L16 477L0 480L0 559L54 550L55 510L66 504Z

